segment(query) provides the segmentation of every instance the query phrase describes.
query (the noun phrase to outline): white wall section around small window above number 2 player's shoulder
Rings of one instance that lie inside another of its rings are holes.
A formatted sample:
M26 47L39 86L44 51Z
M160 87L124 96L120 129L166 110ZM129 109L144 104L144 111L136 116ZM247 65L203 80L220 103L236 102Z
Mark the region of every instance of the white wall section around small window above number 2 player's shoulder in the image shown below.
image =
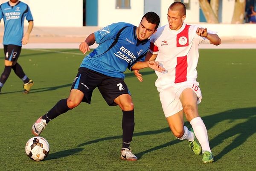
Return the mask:
M138 26L144 15L144 0L131 0L131 9L116 9L115 0L98 0L98 26L127 22Z

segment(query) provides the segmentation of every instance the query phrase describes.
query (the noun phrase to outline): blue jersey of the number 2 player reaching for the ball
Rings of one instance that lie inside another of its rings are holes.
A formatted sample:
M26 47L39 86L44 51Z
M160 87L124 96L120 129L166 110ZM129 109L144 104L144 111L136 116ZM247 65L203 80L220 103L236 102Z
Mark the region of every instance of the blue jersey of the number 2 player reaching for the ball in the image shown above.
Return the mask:
M99 46L87 55L80 67L116 78L124 78L126 68L137 61L144 61L150 42L137 40L136 26L129 23L113 23L94 32Z

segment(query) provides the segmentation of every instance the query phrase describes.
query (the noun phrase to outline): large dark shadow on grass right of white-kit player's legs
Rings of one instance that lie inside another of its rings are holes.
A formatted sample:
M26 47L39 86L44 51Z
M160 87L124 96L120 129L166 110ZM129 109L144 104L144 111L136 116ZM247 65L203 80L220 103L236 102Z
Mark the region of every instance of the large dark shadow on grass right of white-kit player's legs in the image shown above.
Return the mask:
M213 150L213 154L215 154L215 161L224 157L224 155L226 155L229 151L238 148L240 145L246 142L246 140L251 135L253 135L253 133L256 132L256 107L227 110L203 118L204 123L208 129L225 120L229 121L230 124L234 124L234 121L237 119L246 120L234 125L232 128L227 130L219 130L218 136L210 140L210 147L214 148L224 142L225 139L237 136L229 145L223 147L223 149L218 154L215 154Z

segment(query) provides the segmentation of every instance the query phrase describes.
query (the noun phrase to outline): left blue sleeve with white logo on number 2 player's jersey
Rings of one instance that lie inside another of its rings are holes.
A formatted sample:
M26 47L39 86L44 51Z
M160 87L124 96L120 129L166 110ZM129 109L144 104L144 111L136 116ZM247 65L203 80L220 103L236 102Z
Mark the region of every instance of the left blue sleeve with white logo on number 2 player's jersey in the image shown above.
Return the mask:
M103 29L94 32L96 43L100 44L114 38L120 29L119 25L119 23L113 23L111 25L105 26Z

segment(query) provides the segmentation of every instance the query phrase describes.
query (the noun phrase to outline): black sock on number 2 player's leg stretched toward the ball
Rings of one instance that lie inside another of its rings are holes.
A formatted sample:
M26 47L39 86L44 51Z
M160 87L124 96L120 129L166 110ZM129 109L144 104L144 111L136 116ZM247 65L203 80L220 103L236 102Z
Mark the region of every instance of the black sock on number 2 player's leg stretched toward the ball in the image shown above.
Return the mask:
M56 118L62 113L66 113L68 110L70 110L70 108L67 106L67 99L62 99L58 101L58 103L56 103L55 106L52 107L52 109L44 116L42 116L42 119L45 119L46 123L48 123L50 120Z

